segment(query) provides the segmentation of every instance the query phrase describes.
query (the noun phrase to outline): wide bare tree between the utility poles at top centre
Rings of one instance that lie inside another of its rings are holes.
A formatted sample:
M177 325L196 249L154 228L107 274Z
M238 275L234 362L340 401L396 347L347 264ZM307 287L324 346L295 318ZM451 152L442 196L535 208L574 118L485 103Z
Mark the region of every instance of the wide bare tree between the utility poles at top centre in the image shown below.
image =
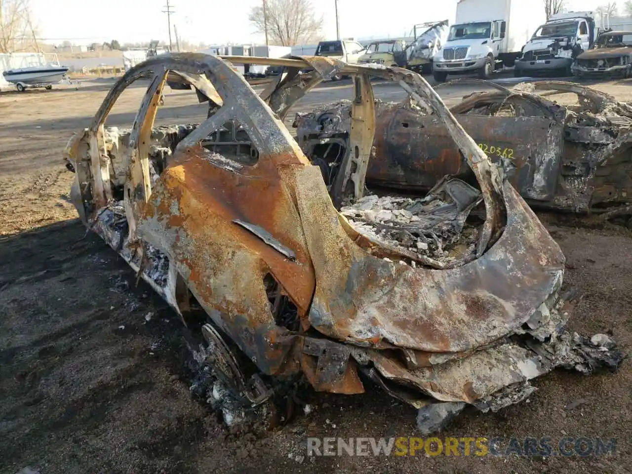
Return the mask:
M294 46L322 38L323 17L317 17L310 0L265 0L264 9L250 9L250 20L258 33L267 33L271 44Z

